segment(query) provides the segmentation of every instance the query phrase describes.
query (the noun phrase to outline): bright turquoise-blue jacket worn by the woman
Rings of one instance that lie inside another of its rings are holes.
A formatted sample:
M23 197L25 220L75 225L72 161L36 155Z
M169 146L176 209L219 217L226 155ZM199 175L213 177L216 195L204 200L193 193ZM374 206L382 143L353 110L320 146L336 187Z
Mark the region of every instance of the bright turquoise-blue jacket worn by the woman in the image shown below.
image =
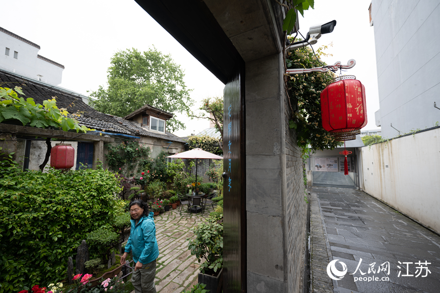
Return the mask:
M133 251L134 263L148 264L159 256L153 215L150 212L148 216L143 216L137 225L135 220L131 220L132 229L125 252Z

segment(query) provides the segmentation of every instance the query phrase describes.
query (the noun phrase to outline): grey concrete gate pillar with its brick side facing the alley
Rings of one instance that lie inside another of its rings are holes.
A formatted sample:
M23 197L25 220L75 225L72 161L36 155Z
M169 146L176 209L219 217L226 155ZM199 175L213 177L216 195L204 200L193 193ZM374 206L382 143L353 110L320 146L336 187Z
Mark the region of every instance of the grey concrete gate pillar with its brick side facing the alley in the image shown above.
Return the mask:
M281 54L245 68L248 292L302 290L307 204L283 69Z

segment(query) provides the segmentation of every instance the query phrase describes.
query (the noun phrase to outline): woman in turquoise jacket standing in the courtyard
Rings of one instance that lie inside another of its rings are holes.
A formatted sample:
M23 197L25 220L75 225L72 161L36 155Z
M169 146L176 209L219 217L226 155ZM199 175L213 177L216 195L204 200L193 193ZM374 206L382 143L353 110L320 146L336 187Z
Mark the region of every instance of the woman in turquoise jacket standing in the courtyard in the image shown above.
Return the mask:
M156 275L156 258L159 248L156 240L156 227L153 212L149 212L148 205L142 200L130 203L132 229L121 257L121 265L125 264L128 252L133 252L136 264L132 274L132 284L135 293L156 293L154 277Z

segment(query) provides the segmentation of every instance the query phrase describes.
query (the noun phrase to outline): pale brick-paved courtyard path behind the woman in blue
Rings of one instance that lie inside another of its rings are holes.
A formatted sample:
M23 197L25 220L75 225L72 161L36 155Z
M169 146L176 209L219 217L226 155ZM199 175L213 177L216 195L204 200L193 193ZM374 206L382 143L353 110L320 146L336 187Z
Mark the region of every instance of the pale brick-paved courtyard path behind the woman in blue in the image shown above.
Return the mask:
M203 214L193 213L191 218L183 211L179 215L178 209L170 209L154 217L159 246L154 279L157 293L185 292L198 282L199 265L188 250L186 239L194 239L190 229L207 221L212 211L211 205L207 205Z

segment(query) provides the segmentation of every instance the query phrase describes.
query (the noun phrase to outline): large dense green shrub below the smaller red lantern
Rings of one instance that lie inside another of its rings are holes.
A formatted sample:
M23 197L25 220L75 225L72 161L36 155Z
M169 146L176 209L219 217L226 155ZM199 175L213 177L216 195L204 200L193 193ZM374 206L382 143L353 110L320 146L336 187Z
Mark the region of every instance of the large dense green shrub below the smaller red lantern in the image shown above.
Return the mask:
M0 160L0 293L64 279L82 239L123 205L107 170L42 173L10 164Z

